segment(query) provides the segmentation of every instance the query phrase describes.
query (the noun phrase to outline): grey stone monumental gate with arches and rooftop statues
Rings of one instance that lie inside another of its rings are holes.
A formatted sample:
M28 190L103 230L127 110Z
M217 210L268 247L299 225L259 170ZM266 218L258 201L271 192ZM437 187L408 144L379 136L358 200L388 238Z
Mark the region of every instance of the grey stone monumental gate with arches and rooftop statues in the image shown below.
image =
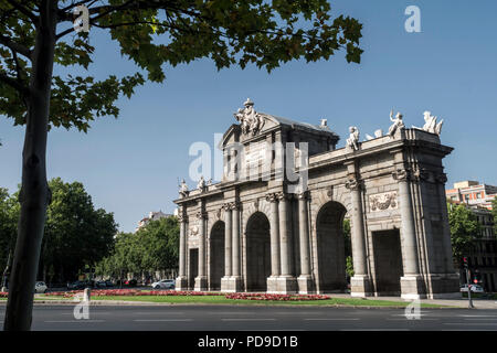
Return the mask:
M351 127L341 149L326 120L256 113L250 99L235 118L220 143L223 180L202 178L191 191L183 182L175 201L177 290L346 291L347 217L352 296L461 296L442 165L453 149L441 145L442 122L430 113L423 128L391 114L389 133L362 142Z

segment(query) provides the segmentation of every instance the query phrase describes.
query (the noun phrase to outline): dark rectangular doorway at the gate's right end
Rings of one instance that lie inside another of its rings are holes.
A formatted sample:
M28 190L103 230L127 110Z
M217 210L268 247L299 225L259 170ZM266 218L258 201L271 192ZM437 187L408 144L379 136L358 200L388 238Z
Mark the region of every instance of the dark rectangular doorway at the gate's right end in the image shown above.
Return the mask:
M400 296L403 276L399 229L372 233L376 291L379 296Z

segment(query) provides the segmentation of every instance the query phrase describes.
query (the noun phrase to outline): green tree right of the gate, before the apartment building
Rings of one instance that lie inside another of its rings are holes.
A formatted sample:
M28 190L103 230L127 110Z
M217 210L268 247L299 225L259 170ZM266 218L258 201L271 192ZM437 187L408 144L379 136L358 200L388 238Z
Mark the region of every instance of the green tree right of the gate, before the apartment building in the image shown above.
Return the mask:
M475 239L482 236L482 226L476 215L465 204L447 202L447 207L452 254L461 266L463 256L470 250Z

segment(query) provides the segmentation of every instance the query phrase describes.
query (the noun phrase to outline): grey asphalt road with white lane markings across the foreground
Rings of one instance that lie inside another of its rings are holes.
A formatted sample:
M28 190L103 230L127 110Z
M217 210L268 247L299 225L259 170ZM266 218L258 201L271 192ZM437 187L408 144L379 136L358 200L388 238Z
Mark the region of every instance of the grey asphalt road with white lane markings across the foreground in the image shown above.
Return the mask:
M422 309L408 320L403 309L232 306L91 306L76 320L74 306L36 304L40 331L497 331L497 310ZM0 306L0 329L6 306Z

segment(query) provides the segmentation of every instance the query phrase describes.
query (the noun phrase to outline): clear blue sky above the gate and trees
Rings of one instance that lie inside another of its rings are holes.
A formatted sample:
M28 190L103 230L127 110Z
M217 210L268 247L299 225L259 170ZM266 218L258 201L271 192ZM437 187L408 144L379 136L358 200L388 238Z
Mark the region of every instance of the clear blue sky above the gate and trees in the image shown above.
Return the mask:
M421 9L421 33L408 33L404 10ZM166 67L162 84L147 83L118 101L120 116L93 124L88 133L54 129L49 136L47 174L81 181L96 206L115 213L133 231L149 211L172 213L177 178L187 178L190 145L223 133L250 97L255 109L318 124L342 139L350 125L361 137L387 130L391 108L408 126L423 125L423 111L445 119L442 142L455 148L445 159L447 185L458 180L497 184L496 1L332 0L334 14L363 23L360 65L340 53L330 61L293 62L267 74L251 66L218 72L209 60ZM89 74L136 72L117 45L97 29ZM24 129L0 117L0 186L21 180ZM494 156L494 157L491 157ZM194 181L188 181L194 186Z

